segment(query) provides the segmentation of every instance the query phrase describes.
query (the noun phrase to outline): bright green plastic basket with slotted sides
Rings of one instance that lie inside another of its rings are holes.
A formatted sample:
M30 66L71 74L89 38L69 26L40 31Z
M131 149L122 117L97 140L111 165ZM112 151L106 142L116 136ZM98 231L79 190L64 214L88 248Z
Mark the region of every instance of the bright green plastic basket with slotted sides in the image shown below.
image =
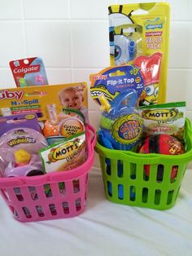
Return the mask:
M191 123L185 119L185 153L182 155L112 150L99 143L95 150L100 158L105 193L109 201L167 210L176 204L186 166L192 161ZM144 165L150 165L149 177L146 177ZM156 179L159 166L164 173L161 182ZM172 166L178 166L175 179L171 179Z

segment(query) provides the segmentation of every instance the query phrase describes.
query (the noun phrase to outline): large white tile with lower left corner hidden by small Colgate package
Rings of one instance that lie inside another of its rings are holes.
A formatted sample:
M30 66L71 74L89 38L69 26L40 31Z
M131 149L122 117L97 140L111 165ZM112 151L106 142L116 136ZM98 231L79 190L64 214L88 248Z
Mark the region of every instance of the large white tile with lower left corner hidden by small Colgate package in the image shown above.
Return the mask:
M40 56L46 67L71 66L70 24L68 22L26 22L29 56Z

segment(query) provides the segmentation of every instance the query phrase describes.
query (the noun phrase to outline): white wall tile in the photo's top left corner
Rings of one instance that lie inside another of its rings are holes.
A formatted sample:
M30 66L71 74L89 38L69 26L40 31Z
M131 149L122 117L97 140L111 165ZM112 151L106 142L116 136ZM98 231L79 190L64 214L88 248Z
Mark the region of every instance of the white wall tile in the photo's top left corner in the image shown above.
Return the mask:
M0 20L22 19L21 0L0 0Z

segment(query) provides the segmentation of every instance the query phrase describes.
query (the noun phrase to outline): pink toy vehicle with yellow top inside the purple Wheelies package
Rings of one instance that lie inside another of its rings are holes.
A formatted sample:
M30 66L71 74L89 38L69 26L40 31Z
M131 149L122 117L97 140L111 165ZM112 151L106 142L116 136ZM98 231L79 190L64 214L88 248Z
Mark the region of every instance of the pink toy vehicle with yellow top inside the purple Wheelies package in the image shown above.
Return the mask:
M4 177L34 176L41 175L41 158L36 155L30 155L27 151L20 148L15 152L15 161L11 161L4 170Z

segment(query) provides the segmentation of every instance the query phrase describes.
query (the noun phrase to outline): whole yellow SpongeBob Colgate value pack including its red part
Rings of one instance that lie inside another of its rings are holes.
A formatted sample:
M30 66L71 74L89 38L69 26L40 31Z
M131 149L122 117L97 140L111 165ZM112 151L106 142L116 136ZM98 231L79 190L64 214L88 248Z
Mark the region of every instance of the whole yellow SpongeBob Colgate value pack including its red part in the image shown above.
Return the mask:
M145 84L141 105L164 103L168 77L168 3L114 5L108 10L111 66L137 65Z

